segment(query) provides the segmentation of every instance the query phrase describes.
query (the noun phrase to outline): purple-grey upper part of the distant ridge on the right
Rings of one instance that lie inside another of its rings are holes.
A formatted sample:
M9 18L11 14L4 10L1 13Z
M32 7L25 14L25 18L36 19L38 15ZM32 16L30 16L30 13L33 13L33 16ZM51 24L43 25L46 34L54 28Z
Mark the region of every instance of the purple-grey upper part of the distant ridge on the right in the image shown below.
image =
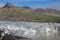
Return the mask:
M56 10L56 9L49 9L49 8L46 8L46 9L43 9L43 8L37 8L37 9L34 9L35 12L38 12L38 13L50 13L50 14L60 14L60 11L59 10Z

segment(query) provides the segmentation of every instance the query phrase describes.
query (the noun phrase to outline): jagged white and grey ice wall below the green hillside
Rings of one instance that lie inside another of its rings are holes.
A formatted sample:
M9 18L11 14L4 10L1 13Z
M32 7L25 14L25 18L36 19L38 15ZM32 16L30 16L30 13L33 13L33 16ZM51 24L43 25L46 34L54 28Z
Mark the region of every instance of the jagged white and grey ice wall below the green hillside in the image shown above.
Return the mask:
M33 37L37 32L57 33L60 23L11 22L0 21L0 29L7 34Z

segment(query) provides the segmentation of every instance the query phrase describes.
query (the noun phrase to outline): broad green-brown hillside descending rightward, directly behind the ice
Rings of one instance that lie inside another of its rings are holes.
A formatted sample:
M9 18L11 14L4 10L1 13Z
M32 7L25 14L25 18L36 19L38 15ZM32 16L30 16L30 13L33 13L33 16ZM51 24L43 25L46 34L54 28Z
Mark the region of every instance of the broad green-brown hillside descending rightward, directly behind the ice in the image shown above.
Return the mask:
M60 22L60 16L40 14L24 7L6 7L0 8L0 20Z

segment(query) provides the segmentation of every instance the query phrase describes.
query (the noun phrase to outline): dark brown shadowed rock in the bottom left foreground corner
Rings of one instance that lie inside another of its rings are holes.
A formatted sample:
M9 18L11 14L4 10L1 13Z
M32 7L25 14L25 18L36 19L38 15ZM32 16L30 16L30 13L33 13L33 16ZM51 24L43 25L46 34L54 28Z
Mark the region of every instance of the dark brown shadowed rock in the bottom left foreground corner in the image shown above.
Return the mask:
M4 32L2 30L0 30L0 38L2 37L1 36L1 33ZM19 36L13 36L11 34L5 34L5 36L3 36L2 39L0 40L31 40L30 38L27 38L27 37L19 37Z

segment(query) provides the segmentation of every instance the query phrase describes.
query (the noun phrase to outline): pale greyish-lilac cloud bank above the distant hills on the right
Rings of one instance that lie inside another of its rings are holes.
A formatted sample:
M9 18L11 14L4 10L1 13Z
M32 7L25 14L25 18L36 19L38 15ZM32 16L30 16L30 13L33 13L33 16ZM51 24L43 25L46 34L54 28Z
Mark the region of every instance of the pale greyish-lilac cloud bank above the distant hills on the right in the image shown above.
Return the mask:
M56 10L60 10L60 2L53 2L49 5L43 5L43 6L35 6L35 8L51 8L51 9L56 9Z

